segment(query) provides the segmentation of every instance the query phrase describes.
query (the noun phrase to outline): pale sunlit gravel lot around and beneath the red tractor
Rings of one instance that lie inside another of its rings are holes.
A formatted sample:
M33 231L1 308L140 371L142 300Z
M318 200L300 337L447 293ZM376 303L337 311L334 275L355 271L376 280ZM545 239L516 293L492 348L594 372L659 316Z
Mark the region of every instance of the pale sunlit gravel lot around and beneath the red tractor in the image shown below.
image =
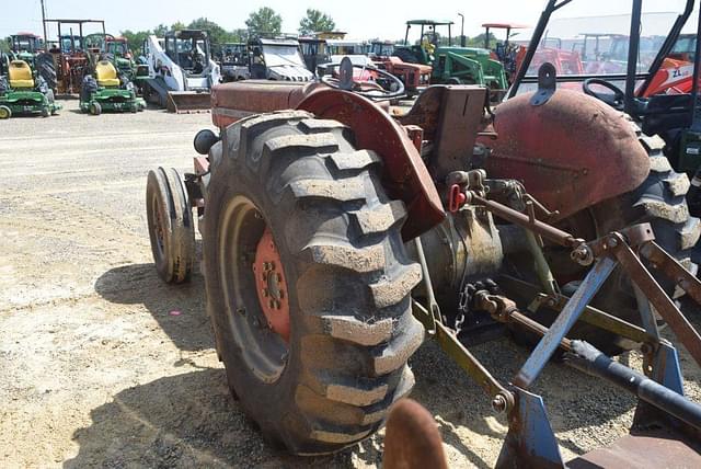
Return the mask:
M57 117L0 122L0 467L379 466L382 433L322 458L267 446L228 393L202 275L184 287L156 275L146 174L188 170L210 116L92 117L64 104ZM505 340L474 353L504 381L527 356ZM701 401L701 371L681 358ZM435 415L450 466L492 467L505 419L435 344L411 365L412 396ZM565 457L625 434L635 405L558 364L536 390Z

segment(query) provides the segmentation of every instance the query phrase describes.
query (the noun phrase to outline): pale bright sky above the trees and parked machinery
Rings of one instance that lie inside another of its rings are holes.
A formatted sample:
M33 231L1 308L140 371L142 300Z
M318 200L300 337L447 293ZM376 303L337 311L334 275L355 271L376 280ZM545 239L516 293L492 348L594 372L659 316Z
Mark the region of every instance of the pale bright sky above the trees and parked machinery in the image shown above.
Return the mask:
M0 0L2 2L9 0ZM512 22L535 25L544 0L461 0L461 1L377 1L377 0L45 0L47 18L101 19L107 33L124 30L150 30L160 23L172 24L205 16L227 30L245 27L249 13L260 7L271 7L283 16L283 32L296 32L308 8L330 14L336 30L353 38L398 39L404 36L404 22L411 19L451 20L452 34L460 33L458 13L464 14L466 35L482 32L485 22ZM644 0L646 11L680 11L683 0ZM489 7L489 8L487 8ZM566 11L565 11L566 10ZM575 0L562 10L563 16L616 14L630 11L630 0ZM39 0L12 2L0 15L0 37L19 31L42 35ZM95 30L96 31L96 30ZM95 32L90 31L88 32ZM49 41L56 32L49 31Z

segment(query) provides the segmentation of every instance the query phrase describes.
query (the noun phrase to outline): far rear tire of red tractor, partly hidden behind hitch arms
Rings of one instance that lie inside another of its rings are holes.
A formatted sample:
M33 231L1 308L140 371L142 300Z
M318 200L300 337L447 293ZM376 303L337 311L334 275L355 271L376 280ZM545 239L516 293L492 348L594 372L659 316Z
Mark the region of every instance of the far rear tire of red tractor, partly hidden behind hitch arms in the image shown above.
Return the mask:
M671 169L663 155L662 139L641 137L640 141L650 155L651 171L647 179L635 191L604 201L577 214L571 220L565 220L562 227L577 232L577 236L596 239L632 225L650 222L655 232L655 242L687 270L697 274L698 266L691 260L691 252L701 236L701 220L689 215L686 202L689 179ZM583 232L581 228L585 225L589 228ZM568 264L572 265L571 262ZM674 282L654 270L651 272L670 297L678 297L679 291ZM561 275L562 272L555 273L555 277ZM568 276L572 273L564 275ZM576 285L575 282L574 286ZM611 274L591 305L629 322L641 324L633 286L621 267ZM571 336L584 339L609 355L616 355L625 348L624 345L621 346L616 334L588 324L577 324Z

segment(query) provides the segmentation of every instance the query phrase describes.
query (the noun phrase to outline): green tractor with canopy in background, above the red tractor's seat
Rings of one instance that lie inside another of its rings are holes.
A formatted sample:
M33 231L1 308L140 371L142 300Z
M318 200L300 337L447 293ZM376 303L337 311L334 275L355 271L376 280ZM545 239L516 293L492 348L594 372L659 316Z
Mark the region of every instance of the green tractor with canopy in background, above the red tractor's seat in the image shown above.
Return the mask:
M394 55L409 64L433 67L430 82L448 84L479 84L494 91L493 99L504 95L508 88L504 66L492 59L489 49L452 45L451 21L412 20L406 22L403 46L395 46ZM443 37L436 27L447 26ZM412 27L420 27L420 41L410 45ZM447 41L447 45L443 43Z

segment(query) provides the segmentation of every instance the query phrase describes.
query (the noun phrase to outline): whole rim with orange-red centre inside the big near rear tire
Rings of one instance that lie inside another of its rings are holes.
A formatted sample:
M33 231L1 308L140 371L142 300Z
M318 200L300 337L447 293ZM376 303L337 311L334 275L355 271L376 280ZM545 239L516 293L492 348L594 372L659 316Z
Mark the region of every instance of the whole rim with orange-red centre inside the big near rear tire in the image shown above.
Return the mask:
M223 210L219 282L229 328L244 365L275 382L289 356L290 314L283 262L261 210L237 196Z

